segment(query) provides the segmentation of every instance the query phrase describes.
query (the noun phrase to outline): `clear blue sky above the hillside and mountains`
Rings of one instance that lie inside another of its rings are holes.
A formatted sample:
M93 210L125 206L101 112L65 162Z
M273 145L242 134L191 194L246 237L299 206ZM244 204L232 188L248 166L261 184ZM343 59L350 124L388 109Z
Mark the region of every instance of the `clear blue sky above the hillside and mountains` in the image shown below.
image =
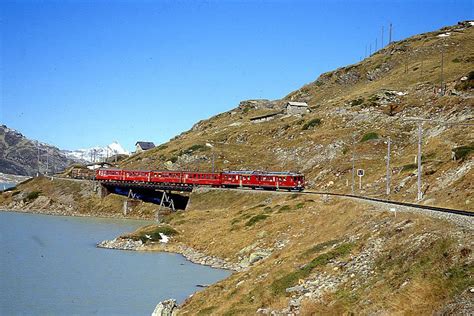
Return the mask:
M0 1L0 123L63 149L159 144L358 62L382 25L472 18L472 0Z

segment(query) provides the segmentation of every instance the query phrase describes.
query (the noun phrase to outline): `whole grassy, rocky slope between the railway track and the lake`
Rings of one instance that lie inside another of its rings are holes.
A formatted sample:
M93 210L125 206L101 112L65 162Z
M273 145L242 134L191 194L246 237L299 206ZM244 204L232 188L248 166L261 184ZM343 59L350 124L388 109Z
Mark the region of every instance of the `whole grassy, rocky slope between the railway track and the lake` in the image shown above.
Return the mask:
M194 294L183 315L472 308L473 231L451 222L340 198L232 190L195 192L188 210L165 222L178 232L172 243L250 264Z

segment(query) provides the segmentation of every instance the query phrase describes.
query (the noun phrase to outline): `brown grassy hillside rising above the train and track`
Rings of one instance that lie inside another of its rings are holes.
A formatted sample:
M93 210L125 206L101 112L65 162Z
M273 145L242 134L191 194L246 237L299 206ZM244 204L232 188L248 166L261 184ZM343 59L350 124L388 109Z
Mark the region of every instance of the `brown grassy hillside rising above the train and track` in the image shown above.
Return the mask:
M417 130L406 119L474 119L473 51L469 22L394 42L281 100L243 101L168 143L125 159L122 167L211 170L214 156L219 170L297 170L305 173L309 188L350 192L354 152L356 168L366 171L356 193L383 196L390 137L391 198L413 201ZM437 92L442 52L445 95ZM307 102L311 112L250 121L282 110L288 100ZM472 210L473 127L425 123L423 135L423 202ZM461 153L456 161L453 150Z

